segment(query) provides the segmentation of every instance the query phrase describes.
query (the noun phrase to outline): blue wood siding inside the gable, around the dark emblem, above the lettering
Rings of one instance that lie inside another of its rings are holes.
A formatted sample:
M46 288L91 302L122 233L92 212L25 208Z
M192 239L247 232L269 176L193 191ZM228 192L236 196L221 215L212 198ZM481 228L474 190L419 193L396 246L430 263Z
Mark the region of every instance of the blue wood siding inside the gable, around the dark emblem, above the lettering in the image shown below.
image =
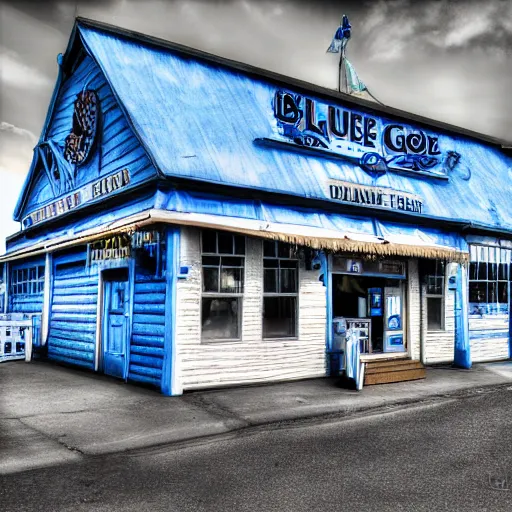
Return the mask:
M103 73L89 56L62 84L46 140L53 140L63 147L72 127L74 102L84 88L96 91L101 113L91 156L76 168L75 189L125 168L130 172L131 185L153 177L156 174L154 166L129 126ZM56 199L42 166L30 186L22 217Z

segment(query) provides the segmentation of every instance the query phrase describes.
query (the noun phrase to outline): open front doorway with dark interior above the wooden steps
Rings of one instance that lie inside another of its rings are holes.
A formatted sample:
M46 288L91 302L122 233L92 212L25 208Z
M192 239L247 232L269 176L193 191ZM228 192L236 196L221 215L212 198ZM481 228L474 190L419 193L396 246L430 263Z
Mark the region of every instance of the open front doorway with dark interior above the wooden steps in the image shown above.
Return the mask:
M405 352L404 281L377 276L332 275L334 318L357 329L361 353Z

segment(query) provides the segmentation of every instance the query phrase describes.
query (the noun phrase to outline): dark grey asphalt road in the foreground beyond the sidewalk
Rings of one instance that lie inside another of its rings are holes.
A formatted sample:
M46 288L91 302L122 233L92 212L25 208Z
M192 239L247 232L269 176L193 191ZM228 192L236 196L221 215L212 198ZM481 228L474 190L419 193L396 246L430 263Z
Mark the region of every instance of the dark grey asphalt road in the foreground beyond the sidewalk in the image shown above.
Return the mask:
M504 487L504 488L503 488ZM0 477L7 511L510 511L512 388Z

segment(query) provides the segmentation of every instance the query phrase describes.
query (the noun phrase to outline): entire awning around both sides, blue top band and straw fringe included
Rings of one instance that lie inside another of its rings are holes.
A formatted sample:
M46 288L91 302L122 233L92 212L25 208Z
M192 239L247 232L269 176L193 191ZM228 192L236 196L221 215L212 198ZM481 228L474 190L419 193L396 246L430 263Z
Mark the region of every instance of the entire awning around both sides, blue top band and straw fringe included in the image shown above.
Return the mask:
M468 245L456 233L383 222L370 217L173 190L159 191L152 208L100 223L94 228L35 243L0 257L0 261L53 252L106 235L132 232L154 223L223 229L313 249L370 257L468 260Z

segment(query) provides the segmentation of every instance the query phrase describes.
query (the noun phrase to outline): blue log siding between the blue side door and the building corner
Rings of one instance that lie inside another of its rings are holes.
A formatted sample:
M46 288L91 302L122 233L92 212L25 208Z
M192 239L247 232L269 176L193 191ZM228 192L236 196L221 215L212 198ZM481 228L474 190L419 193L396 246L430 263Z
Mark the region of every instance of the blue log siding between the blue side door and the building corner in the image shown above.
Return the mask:
M164 358L165 279L135 280L128 379L160 387Z

